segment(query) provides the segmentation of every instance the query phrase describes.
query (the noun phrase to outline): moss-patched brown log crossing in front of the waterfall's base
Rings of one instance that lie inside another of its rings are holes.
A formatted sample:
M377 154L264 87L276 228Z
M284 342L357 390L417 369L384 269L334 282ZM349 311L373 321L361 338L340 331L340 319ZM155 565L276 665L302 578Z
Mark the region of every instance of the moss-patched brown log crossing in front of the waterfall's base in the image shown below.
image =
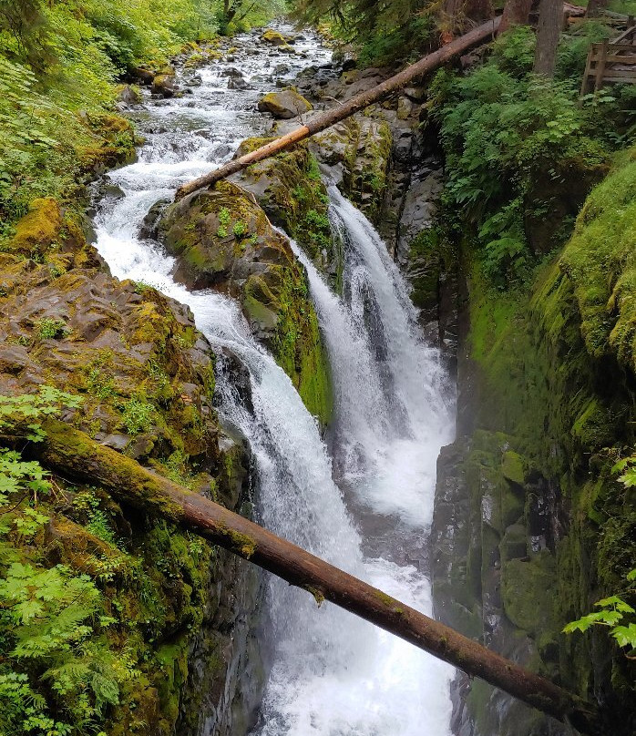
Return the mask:
M468 675L506 690L559 721L571 723L589 736L602 732L597 712L589 703L549 680L524 670L477 641L467 639L262 526L99 445L68 424L47 420L43 429L46 438L37 445L30 445L30 451L46 467L62 475L99 483L120 501L163 516L269 570L291 585L304 588L319 604L329 600L446 660ZM16 434L25 436L29 431L13 428L10 439L15 441ZM9 438L5 436L4 439ZM426 687L426 683L422 686Z

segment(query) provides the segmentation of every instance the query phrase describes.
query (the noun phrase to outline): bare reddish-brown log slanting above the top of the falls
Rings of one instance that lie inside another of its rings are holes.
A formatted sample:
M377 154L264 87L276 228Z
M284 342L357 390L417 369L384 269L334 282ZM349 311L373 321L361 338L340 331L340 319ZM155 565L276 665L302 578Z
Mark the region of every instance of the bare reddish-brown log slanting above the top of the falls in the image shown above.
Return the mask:
M231 174L236 174L237 171L247 169L248 166L255 164L257 161L262 161L263 158L270 158L281 151L287 150L287 148L292 148L292 146L299 143L301 140L310 138L315 133L320 133L325 128L330 128L335 123L339 123L341 120L349 118L356 112L364 110L365 107L369 107L369 105L373 105L375 102L379 102L380 100L385 99L385 97L389 97L395 92L399 92L417 77L423 77L425 74L434 71L439 66L446 64L447 61L450 61L450 59L455 56L463 54L469 48L483 43L488 38L494 37L500 20L500 17L493 18L492 20L487 21L487 23L483 23L481 26L473 28L472 31L469 31L464 36L459 36L454 41L446 44L446 46L442 46L432 54L424 56L415 64L407 66L394 77L389 77L382 82L382 84L377 85L377 87L373 87L366 92L361 92L359 95L355 95L343 105L332 107L322 115L317 115L315 118L307 122L306 125L292 130L291 133L287 133L281 138L272 140L261 148L257 148L256 150L251 151L251 153L245 154L245 156L234 158L229 163L221 166L220 169L214 169L198 179L189 181L177 190L175 199L181 199L202 187L209 187L215 182L231 176Z

